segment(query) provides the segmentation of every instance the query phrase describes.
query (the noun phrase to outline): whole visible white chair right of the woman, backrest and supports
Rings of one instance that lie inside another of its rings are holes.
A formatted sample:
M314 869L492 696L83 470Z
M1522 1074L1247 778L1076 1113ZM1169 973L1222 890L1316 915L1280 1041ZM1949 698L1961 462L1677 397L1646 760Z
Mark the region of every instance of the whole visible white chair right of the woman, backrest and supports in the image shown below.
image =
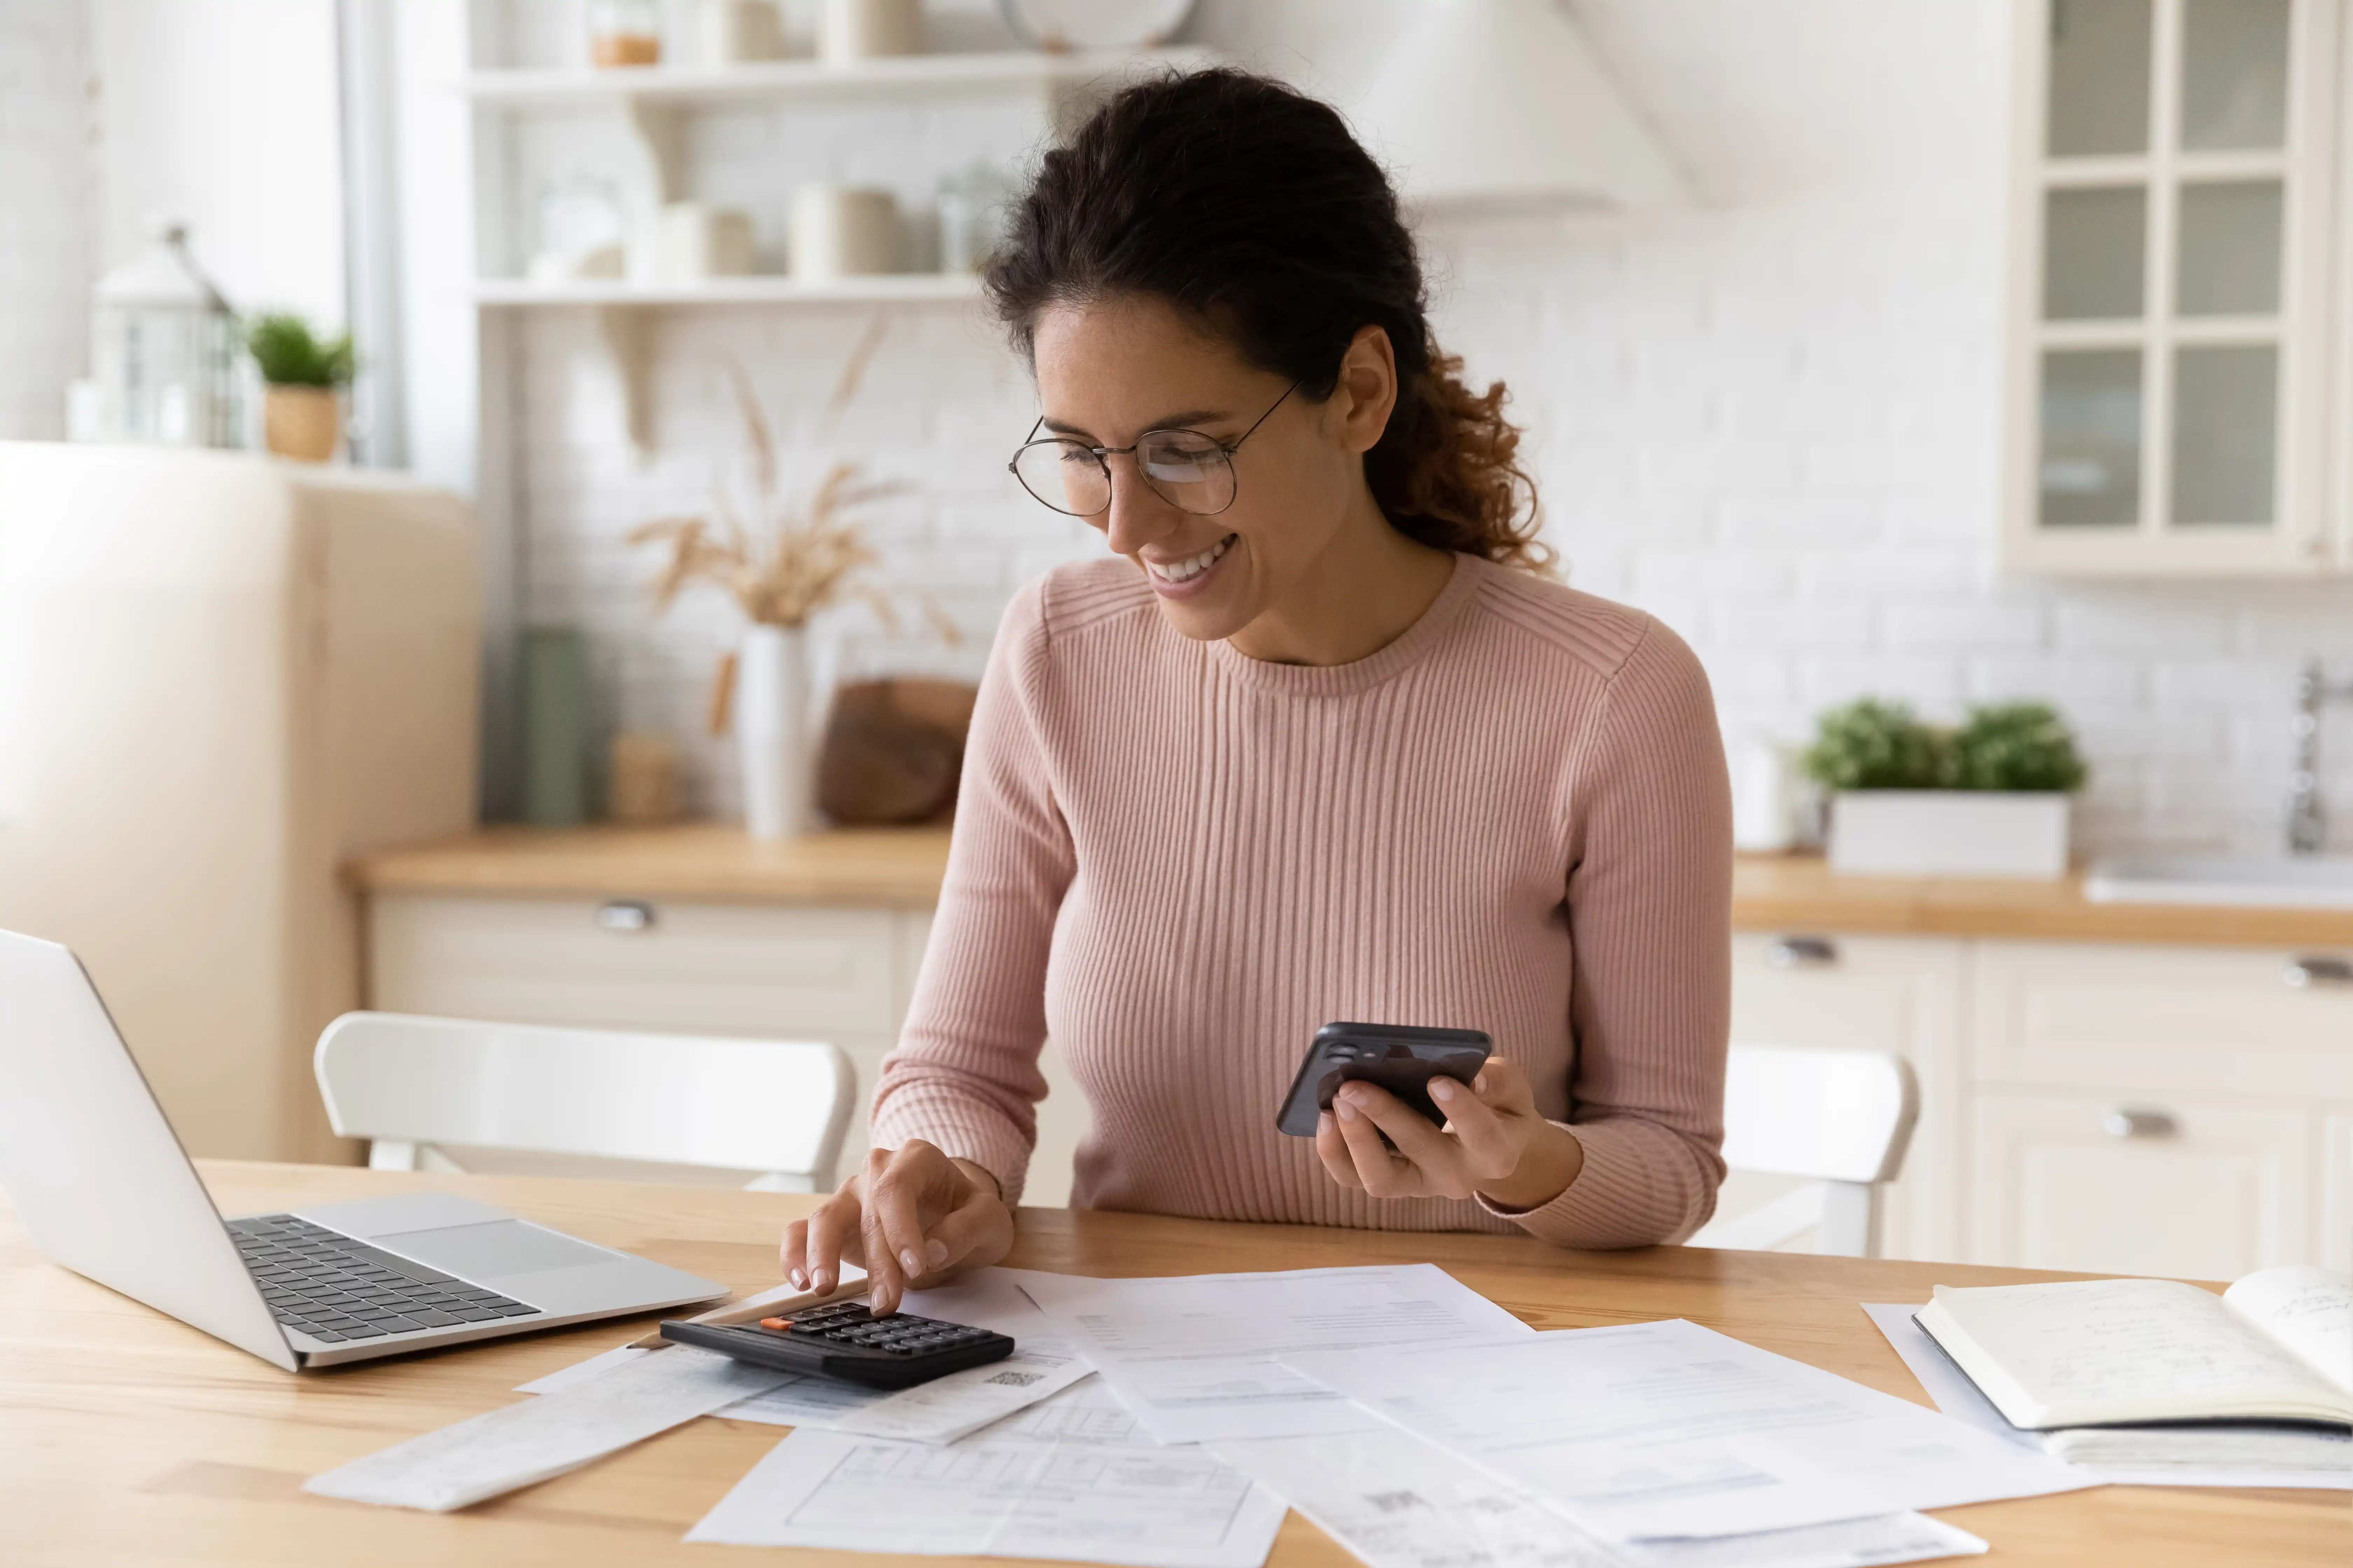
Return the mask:
M1878 1258L1880 1190L1904 1171L1918 1119L1920 1086L1901 1056L1732 1046L1725 1164L1812 1185L1711 1220L1689 1246L1774 1251L1819 1227L1819 1251Z

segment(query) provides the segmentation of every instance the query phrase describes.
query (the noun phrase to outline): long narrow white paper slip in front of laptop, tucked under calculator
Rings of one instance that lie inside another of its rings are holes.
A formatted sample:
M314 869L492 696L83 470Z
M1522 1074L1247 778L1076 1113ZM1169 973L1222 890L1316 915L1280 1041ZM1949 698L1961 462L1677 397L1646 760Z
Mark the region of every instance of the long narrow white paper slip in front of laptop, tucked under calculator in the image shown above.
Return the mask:
M642 1443L788 1375L704 1349L666 1349L555 1394L381 1448L311 1476L304 1490L409 1509L461 1509Z

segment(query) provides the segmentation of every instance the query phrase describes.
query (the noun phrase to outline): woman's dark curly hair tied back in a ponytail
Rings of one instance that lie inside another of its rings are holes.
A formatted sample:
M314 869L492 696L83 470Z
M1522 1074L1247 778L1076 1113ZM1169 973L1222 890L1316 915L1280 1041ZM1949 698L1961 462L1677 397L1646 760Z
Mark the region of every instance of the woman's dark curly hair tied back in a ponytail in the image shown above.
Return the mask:
M1106 101L1045 155L988 296L1028 355L1042 308L1111 294L1169 301L1315 400L1339 386L1358 329L1381 327L1398 407L1365 480L1391 527L1551 571L1504 383L1473 393L1433 341L1398 193L1329 103L1247 71L1155 78Z

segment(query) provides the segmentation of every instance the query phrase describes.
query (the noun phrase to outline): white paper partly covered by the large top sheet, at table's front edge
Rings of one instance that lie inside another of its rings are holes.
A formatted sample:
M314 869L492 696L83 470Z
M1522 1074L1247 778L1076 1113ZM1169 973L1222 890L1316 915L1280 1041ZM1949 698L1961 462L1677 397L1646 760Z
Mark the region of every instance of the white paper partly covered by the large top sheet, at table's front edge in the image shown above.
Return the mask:
M1369 1568L1864 1568L1986 1549L1925 1514L1609 1547L1520 1488L1395 1427L1209 1448Z

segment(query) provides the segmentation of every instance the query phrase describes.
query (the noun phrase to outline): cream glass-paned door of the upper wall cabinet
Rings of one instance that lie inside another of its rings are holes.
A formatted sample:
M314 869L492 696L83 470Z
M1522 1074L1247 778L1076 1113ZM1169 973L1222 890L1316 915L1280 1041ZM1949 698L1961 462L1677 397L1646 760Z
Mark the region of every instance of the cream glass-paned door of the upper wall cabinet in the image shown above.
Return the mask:
M2014 0L2005 564L2325 571L2346 0Z

